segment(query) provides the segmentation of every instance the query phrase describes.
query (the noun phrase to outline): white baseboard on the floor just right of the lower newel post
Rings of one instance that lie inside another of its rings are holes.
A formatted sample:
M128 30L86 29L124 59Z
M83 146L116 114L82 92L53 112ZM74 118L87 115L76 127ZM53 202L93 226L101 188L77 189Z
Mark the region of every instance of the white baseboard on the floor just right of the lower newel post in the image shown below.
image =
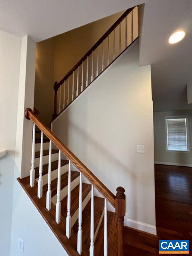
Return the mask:
M132 219L125 219L124 225L127 227L132 227L153 235L157 235L157 230L154 225L150 225L141 221L135 221Z

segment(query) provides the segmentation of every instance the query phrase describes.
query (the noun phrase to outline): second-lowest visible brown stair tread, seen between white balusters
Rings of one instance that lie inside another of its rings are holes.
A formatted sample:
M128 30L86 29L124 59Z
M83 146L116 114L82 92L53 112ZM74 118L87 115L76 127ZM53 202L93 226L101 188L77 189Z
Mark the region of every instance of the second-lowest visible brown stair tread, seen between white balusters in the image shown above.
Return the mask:
M104 210L104 198L94 196L94 233L98 227L99 220ZM91 221L91 199L82 212L82 239L87 249L90 247L90 221ZM78 231L78 220L73 226L73 230Z

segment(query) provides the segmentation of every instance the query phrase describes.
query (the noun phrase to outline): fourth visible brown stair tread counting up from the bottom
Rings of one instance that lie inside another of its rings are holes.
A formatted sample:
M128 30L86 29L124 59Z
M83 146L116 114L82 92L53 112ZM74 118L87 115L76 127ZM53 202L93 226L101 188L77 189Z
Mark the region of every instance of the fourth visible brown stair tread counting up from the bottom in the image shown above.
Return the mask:
M68 185L68 173L61 175L61 189ZM71 181L79 176L79 172L71 171ZM43 186L43 193L47 191L47 184ZM52 197L57 194L57 178L51 181L51 195Z

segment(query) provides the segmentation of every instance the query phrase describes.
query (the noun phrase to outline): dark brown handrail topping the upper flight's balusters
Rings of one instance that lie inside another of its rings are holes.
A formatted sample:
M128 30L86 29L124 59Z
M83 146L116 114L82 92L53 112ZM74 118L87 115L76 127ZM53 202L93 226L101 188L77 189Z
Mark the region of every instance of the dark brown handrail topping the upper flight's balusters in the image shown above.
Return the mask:
M75 71L77 67L81 65L82 62L85 61L89 55L91 55L91 53L98 47L98 45L100 45L102 41L107 38L107 36L113 31L113 29L115 29L119 25L119 23L125 18L125 16L127 16L133 9L134 7L129 8L121 15L121 17L119 17L118 20L116 20L116 22L107 30L107 32L105 32L105 34L91 47L91 49L88 50L87 53L85 53L85 55L79 60L79 62L77 62L77 64L73 68L71 68L71 70L61 79L61 81L57 83L56 90L58 90L58 88L64 83L64 81L67 80L67 78L71 74L73 74L73 71Z

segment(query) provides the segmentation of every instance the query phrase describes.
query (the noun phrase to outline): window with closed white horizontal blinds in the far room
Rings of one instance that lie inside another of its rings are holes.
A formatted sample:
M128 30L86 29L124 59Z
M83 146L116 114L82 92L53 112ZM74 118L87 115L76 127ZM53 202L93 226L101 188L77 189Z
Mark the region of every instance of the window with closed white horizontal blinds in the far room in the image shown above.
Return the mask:
M167 117L167 150L188 151L187 118Z

